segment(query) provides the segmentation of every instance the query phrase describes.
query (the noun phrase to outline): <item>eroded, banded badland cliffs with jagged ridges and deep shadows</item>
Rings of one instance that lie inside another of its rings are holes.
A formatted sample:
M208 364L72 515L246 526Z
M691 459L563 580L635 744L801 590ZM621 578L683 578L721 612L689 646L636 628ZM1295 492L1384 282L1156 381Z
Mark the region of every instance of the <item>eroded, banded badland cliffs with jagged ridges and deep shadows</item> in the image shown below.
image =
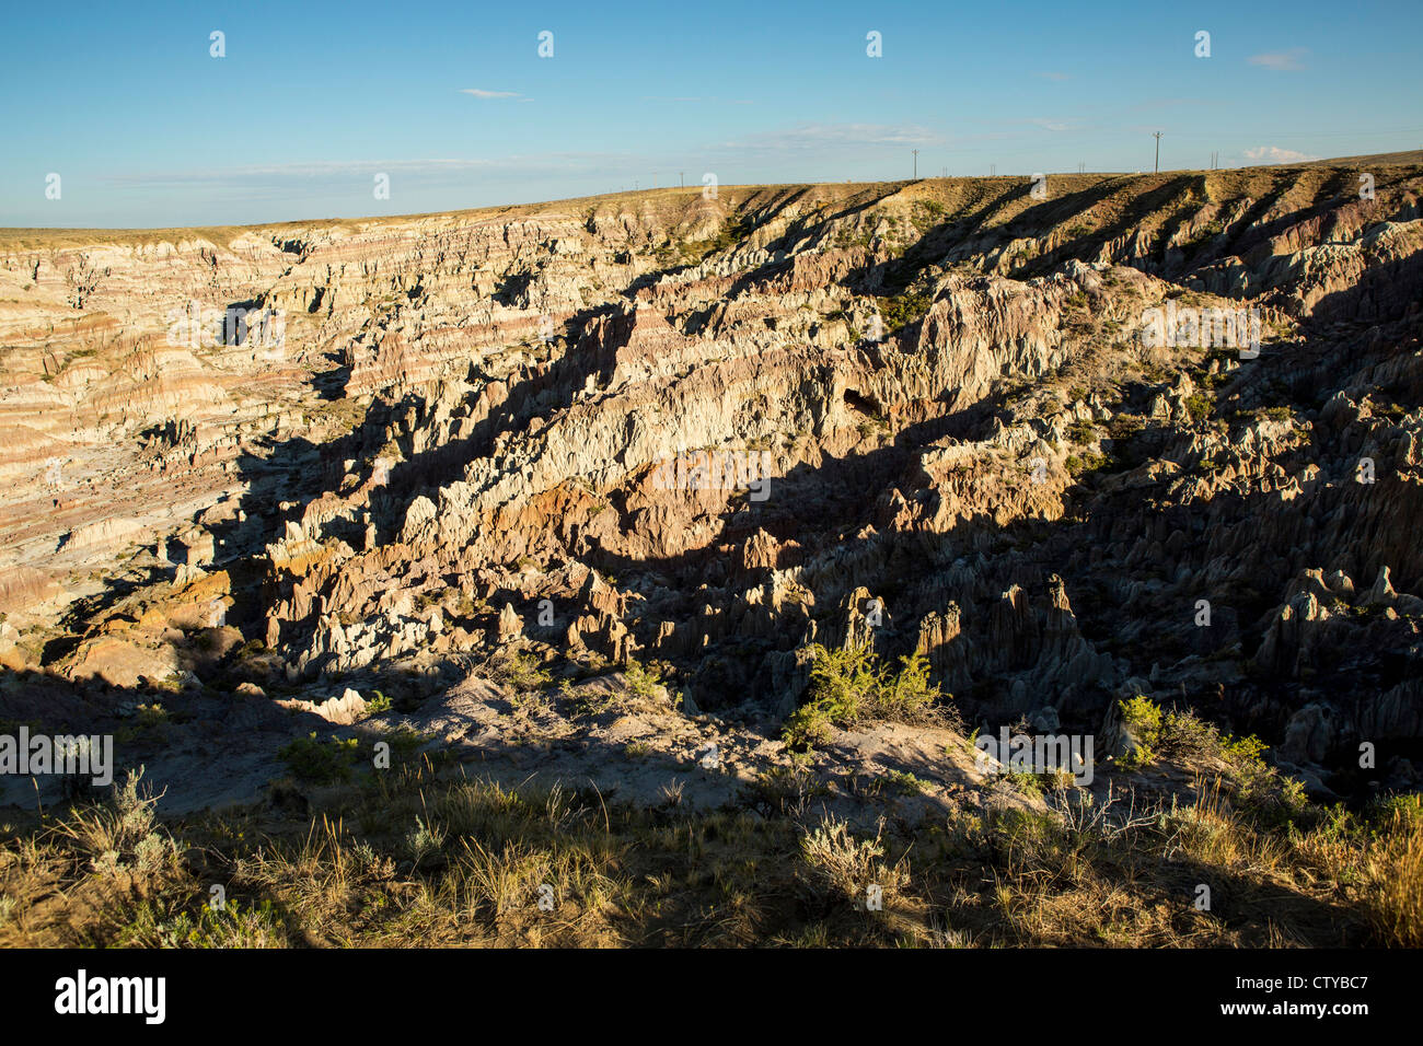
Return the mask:
M1407 784L1423 172L1373 174L16 233L0 657L221 707L518 648L774 724L808 645L871 642L972 723L1141 693Z

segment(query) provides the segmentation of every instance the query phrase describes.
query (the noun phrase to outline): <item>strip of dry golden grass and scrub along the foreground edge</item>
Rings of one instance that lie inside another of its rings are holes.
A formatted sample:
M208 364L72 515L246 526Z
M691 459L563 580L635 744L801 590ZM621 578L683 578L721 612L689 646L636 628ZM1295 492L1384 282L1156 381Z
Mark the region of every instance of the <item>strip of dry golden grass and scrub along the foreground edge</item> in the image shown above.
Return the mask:
M692 811L509 790L428 757L306 796L310 817L159 827L134 780L9 827L0 944L1417 946L1423 925L1416 804L1281 824L1220 781L916 828L760 796Z

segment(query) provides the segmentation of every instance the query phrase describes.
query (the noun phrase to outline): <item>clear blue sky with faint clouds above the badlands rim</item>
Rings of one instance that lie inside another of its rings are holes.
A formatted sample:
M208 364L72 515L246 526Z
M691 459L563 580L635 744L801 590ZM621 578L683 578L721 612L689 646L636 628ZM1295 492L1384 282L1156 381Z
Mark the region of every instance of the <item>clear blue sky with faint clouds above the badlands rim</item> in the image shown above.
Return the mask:
M249 0L4 21L4 226L414 213L679 172L906 178L912 149L921 175L1150 171L1157 130L1163 169L1423 147L1417 0Z

